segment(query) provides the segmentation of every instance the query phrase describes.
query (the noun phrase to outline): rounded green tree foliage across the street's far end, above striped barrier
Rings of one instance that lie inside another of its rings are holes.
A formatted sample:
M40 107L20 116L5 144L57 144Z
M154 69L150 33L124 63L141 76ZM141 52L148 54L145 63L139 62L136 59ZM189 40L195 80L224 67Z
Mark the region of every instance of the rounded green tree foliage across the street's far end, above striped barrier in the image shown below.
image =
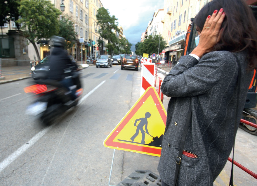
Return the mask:
M161 35L150 35L148 38L144 40L144 42L140 43L138 42L135 45L135 53L137 55L143 55L143 53L146 54L158 54L158 47L159 47L159 41L160 41L160 49L159 52L161 52L165 48L166 42L162 38Z

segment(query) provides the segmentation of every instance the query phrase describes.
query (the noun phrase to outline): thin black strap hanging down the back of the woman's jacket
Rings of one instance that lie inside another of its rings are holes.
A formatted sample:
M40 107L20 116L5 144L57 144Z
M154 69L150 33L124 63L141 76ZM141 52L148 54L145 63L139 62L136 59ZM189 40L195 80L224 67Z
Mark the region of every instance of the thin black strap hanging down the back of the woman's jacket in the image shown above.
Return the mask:
M240 95L240 87L241 87L241 65L239 62L238 57L234 54L235 58L237 59L237 64L238 64L238 77L237 77L237 82L238 82L238 88L237 88L237 109L236 109L236 118L235 118L235 126L234 126L234 136L233 136L233 156L232 156L232 166L231 166L231 174L230 174L230 182L229 185L233 186L233 166L234 166L234 151L235 151L235 138L236 138L236 133L237 133L237 116L238 116L238 104L239 104L239 95Z

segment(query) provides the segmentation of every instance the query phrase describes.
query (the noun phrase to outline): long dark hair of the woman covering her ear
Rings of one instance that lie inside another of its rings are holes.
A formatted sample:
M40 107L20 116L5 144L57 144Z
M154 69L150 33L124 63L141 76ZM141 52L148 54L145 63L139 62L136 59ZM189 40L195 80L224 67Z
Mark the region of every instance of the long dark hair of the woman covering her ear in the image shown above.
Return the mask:
M196 15L194 23L202 31L208 15L214 10L223 10L226 17L223 20L222 37L213 51L248 52L249 68L257 69L257 22L252 10L245 0L213 0L206 4Z

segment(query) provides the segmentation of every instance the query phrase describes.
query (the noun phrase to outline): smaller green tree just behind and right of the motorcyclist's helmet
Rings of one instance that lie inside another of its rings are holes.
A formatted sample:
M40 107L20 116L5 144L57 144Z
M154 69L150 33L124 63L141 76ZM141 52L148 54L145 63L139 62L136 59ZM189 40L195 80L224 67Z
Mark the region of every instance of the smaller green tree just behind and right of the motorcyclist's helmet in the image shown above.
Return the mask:
M76 40L76 32L74 30L74 23L69 20L69 18L63 17L62 20L59 21L60 31L58 36L66 39L66 49L69 49L73 46Z

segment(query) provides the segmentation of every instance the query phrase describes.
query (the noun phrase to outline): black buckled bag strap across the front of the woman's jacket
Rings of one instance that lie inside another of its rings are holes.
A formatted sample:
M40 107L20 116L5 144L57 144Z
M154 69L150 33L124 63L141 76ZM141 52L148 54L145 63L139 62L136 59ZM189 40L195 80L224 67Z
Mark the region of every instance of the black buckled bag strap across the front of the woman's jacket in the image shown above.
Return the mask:
M187 114L187 120L186 120L186 123L185 123L184 132L183 132L183 136L182 136L181 142L180 142L178 157L176 158L176 163L177 164L176 164L175 177L174 177L174 186L176 186L178 184L178 173L179 173L182 153L183 153L183 149L184 149L184 146L185 146L185 141L186 141L186 138L187 138L187 132L188 132L189 124L190 124L190 121L191 121L191 117L192 117L192 107L191 107L191 103L190 103L189 111L188 111L188 114Z

